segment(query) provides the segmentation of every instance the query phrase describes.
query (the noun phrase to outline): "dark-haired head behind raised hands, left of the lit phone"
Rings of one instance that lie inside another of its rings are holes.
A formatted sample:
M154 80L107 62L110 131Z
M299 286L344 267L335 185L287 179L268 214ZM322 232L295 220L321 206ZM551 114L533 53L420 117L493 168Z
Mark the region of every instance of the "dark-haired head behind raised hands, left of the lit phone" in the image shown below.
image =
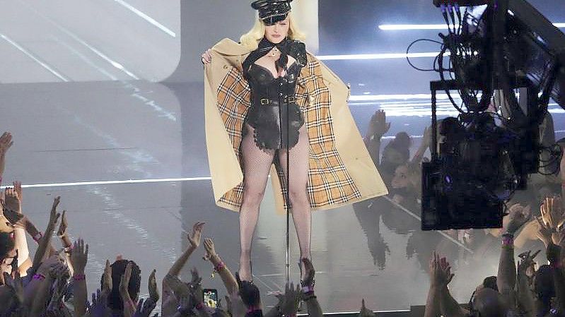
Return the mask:
M139 297L139 288L141 287L141 270L139 266L134 261L129 260L117 260L112 265L112 292L108 295L108 307L113 311L123 311L124 302L120 296L120 280L122 275L126 271L126 266L128 263L132 263L132 277L129 279L129 285L127 286L129 297L132 298L134 302L137 302ZM103 285L103 277L100 279L100 287Z

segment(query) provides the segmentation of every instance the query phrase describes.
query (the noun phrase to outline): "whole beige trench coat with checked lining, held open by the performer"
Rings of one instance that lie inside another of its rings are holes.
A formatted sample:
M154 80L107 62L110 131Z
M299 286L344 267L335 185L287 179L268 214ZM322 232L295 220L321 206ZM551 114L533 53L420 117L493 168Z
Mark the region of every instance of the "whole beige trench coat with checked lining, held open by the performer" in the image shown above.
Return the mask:
M250 52L224 39L212 47L212 61L204 66L206 148L214 200L233 211L239 211L243 201L240 143L251 91L243 78L242 63ZM308 54L297 80L296 103L308 129L307 191L312 210L337 208L388 193L349 112L348 99L349 87ZM285 178L276 162L270 176L276 210L284 213Z

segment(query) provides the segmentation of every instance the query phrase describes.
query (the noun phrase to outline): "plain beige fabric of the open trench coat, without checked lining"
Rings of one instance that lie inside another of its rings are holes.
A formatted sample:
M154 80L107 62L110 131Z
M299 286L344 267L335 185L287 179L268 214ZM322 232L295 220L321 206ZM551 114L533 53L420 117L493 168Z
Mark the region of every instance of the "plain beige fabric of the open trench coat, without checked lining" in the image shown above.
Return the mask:
M234 191L236 187L239 186L240 189L243 187L243 172L238 157L237 144L234 145L233 143L233 131L231 133L228 132L225 118L223 119L219 111L219 91L226 78L233 76L234 73L243 73L242 63L247 55L250 54L250 50L232 40L224 39L212 47L211 54L212 62L204 67L204 107L206 148L208 151L214 200L220 207L239 211L241 198L236 203L226 203L224 197L226 193ZM363 143L361 134L356 127L353 116L349 112L347 105L349 88L330 68L327 68L318 59L315 59L314 56L308 54L308 60L309 63L312 61L312 63L318 65L318 73L321 73L323 79L322 85L325 84L328 88L327 90L330 91L330 121L334 137L334 144L332 145L339 153L339 158L342 162L340 165L344 165L346 173L349 174L349 182L352 181L356 188L356 196L348 197L346 201L339 201L337 203L330 201L330 203L325 205L313 205L312 209L327 210L368 198L386 195L388 193L386 186L375 168L373 160ZM305 66L305 68L308 68L308 66ZM303 68L303 71L305 71L305 68ZM313 69L313 67L310 68ZM303 76L303 73L301 73L301 76ZM243 78L236 78L236 80L238 82L243 81L244 83L241 83L241 85L247 85ZM317 83L316 85L319 84ZM308 98L310 103L312 103L312 96L308 96ZM308 107L308 102L304 103L305 107ZM234 105L233 107L238 106L240 105ZM310 136L310 128L308 134ZM284 213L284 193L281 189L279 174L277 174L274 165L271 168L270 176L274 189L276 210L279 213Z

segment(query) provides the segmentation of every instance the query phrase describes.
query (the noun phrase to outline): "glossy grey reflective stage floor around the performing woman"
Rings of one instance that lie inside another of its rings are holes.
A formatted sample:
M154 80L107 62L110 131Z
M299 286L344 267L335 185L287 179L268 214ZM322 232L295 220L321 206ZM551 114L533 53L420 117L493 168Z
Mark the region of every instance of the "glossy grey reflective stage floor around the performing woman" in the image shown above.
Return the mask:
M353 76L346 75L344 81L353 84L357 96L393 93L366 89ZM0 128L11 131L15 141L4 183L19 180L28 186L24 213L38 227L45 226L54 196L62 196L69 232L91 246L89 291L97 287L105 260L121 254L140 265L141 292L146 294L148 273L156 268L159 278L165 275L187 246L186 232L197 221L206 222L204 235L214 238L219 255L237 270L238 214L214 205L207 178L202 91L202 84L145 81L0 85ZM353 98L351 112L363 133L376 109L388 113L388 136L407 131L414 136L414 148L419 145L429 124L425 96L370 102ZM557 138L562 138L564 114L553 109ZM91 181L101 183L83 184ZM284 289L285 223L285 217L274 212L268 189L252 253L255 282L267 305L274 304L267 292ZM296 281L298 244L292 230L291 238ZM312 244L316 292L327 312L356 311L362 298L375 310L424 304L433 249L452 261L453 293L465 302L474 285L496 274L499 251L498 242L482 232L472 250L436 232L421 232L408 210L384 199L314 213ZM184 276L195 266L204 275L205 287L224 294L219 279L207 277L211 265L203 255L203 249L194 253Z

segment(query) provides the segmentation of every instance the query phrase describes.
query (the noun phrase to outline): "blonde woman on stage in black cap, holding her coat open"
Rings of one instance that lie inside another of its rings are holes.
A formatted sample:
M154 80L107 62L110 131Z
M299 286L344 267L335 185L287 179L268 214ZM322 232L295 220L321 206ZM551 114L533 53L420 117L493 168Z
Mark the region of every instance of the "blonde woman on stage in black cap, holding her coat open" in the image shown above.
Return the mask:
M240 43L225 39L202 54L214 198L240 212L241 280L252 280L269 172L277 209L292 212L301 258L310 259L310 210L387 193L347 108L349 89L306 52L291 1L254 1L259 15Z

